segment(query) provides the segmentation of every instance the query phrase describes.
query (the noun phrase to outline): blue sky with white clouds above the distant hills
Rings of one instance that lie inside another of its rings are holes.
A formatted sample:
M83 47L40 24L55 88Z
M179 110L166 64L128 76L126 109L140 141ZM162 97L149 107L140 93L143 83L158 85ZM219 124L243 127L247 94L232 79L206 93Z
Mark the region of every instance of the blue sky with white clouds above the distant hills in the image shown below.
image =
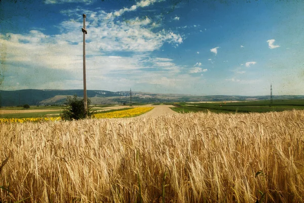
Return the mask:
M0 2L2 90L304 94L304 2Z

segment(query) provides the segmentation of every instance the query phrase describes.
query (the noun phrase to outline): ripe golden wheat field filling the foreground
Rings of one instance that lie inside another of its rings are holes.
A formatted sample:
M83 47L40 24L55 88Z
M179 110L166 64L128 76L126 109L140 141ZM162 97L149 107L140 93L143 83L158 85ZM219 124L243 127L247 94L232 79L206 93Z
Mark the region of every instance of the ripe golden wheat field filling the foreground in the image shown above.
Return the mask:
M304 111L0 124L0 201L303 202Z

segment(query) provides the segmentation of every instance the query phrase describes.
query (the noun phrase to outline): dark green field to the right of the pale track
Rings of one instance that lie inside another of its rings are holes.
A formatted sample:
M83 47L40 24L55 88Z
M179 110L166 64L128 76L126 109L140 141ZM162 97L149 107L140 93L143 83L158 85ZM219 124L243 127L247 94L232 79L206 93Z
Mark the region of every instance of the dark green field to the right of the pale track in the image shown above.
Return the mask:
M171 108L178 113L215 112L215 113L250 113L250 112L280 112L286 110L304 110L304 100L269 100L218 102L218 103L178 103Z

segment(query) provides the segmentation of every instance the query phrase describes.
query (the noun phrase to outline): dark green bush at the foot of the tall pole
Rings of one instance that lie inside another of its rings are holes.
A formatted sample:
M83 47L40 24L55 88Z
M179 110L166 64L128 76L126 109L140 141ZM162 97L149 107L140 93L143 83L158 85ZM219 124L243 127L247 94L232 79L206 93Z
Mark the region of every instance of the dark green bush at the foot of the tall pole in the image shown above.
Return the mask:
M64 103L67 105L67 108L63 110L60 114L60 117L63 120L79 120L85 118L85 105L84 99L74 95L73 97L67 96ZM91 100L88 98L88 117L91 117L94 114L94 111L91 111L92 107Z

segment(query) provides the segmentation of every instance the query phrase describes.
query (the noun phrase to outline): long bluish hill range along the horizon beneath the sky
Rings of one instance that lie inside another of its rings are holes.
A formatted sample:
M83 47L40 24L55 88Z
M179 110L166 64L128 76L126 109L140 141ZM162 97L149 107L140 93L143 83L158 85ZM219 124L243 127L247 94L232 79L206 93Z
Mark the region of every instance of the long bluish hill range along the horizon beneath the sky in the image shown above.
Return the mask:
M63 105L67 96L77 94L83 97L83 90L38 90L23 89L16 91L0 90L0 106L30 106ZM92 104L123 104L130 103L130 91L111 92L105 90L87 90ZM270 96L195 96L186 94L158 94L147 92L132 92L132 103L164 103L182 101L223 101L223 100L264 100ZM304 95L273 96L274 99L304 99Z

